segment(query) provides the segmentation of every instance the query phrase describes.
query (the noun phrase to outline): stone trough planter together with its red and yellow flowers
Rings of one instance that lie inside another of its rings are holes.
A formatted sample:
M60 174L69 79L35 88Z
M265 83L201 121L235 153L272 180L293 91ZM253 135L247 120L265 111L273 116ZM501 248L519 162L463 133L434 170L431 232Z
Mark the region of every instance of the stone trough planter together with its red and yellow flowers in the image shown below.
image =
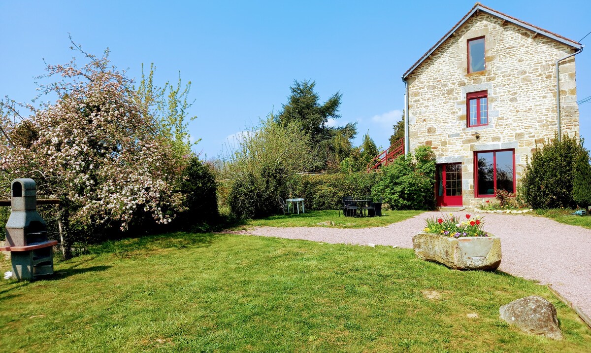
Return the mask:
M496 270L501 264L501 239L483 230L480 216L466 220L450 213L427 219L423 232L413 237L418 258L456 270Z

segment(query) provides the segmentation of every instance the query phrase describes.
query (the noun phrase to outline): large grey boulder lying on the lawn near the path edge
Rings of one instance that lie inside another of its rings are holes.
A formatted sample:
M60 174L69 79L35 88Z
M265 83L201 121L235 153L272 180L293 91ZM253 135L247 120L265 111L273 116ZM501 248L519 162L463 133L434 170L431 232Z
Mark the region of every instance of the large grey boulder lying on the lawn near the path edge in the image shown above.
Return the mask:
M501 306L501 319L515 325L521 331L532 335L542 335L552 339L562 339L558 328L556 307L543 297L529 296L514 300Z

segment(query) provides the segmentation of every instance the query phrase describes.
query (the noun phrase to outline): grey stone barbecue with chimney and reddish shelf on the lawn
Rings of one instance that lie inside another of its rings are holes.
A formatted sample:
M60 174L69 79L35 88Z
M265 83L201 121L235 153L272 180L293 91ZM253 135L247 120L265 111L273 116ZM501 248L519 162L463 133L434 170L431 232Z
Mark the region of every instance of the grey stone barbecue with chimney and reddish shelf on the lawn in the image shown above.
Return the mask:
M37 190L33 179L15 179L11 184L12 212L6 224L6 245L11 252L12 277L33 280L53 274L53 246L47 239L47 224L37 212Z

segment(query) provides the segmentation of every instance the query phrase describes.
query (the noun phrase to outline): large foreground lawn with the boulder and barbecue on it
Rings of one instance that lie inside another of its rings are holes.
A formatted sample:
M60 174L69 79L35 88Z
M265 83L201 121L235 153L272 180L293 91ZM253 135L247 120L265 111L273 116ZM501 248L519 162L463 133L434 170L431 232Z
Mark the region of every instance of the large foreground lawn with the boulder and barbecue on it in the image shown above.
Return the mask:
M0 282L0 350L591 350L591 330L547 287L449 270L411 250L177 233L90 251L47 280ZM498 318L499 306L531 294L556 305L563 341Z

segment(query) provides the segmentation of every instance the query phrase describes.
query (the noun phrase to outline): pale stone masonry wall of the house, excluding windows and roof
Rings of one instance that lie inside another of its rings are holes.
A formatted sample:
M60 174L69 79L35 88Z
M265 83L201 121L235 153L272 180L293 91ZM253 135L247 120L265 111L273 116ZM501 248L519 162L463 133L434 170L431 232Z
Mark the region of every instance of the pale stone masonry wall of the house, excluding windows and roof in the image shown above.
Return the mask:
M467 40L485 36L486 70L467 73ZM515 150L519 179L535 145L557 132L556 60L574 49L480 12L408 76L410 150L430 145L437 163L462 162L465 206L475 199L474 151ZM467 127L466 93L488 90L489 123ZM561 128L579 136L574 57L560 63Z

